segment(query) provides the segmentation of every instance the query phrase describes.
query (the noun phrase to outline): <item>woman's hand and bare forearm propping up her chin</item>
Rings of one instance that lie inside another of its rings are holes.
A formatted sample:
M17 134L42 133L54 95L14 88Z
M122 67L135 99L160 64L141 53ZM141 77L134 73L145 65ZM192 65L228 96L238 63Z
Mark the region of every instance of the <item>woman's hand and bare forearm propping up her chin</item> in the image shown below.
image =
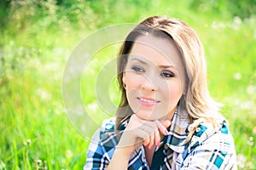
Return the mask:
M152 149L154 144L159 145L160 133L167 135L166 127L170 125L171 121L168 120L163 122L146 121L133 114L113 152L108 169L127 169L131 153L142 144L149 149Z

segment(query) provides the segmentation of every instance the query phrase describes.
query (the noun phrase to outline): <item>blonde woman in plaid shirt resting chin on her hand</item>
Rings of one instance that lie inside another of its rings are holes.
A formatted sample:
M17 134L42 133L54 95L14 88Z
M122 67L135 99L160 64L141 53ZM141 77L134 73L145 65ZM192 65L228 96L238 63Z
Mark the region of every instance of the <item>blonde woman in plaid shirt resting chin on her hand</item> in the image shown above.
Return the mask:
M116 117L94 134L84 169L236 169L204 49L181 20L149 17L119 52Z

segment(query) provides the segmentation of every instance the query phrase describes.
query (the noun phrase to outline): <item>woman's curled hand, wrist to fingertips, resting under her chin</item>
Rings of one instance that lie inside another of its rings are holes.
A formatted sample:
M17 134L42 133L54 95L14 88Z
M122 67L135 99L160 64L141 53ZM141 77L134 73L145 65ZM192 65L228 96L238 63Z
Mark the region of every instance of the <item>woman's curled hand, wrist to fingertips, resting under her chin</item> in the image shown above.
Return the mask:
M157 146L160 144L160 133L168 134L166 127L170 125L171 122L168 120L163 122L158 120L146 121L133 114L127 127L125 127L117 148L122 149L125 151L123 153L129 156L133 150L142 144L152 150L154 144Z

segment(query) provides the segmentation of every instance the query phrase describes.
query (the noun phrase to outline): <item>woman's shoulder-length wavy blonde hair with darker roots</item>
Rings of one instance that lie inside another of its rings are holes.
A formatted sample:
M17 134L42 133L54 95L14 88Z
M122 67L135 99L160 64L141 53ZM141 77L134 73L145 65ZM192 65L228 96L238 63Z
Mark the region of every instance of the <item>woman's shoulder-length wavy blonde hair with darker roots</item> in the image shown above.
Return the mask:
M204 120L212 122L214 126L216 118L220 116L221 105L212 99L207 88L205 52L196 32L181 20L160 16L149 17L135 26L119 50L118 82L121 99L116 113L116 128L118 129L121 122L133 114L122 81L131 48L138 37L150 34L154 37L166 38L166 36L161 36L163 33L167 35L170 41L175 42L185 68L186 89L180 99L180 104L182 104L183 110L187 111L190 123L193 125L191 132L189 131L191 136L195 132L195 128Z

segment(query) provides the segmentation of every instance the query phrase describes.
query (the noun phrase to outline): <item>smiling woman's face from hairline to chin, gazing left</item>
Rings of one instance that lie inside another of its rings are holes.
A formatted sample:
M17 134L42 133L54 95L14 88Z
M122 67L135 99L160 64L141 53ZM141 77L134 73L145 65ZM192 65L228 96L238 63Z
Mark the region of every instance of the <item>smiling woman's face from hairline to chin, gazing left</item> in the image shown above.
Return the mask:
M138 37L131 48L123 82L128 103L145 120L172 119L185 88L185 70L170 40Z

